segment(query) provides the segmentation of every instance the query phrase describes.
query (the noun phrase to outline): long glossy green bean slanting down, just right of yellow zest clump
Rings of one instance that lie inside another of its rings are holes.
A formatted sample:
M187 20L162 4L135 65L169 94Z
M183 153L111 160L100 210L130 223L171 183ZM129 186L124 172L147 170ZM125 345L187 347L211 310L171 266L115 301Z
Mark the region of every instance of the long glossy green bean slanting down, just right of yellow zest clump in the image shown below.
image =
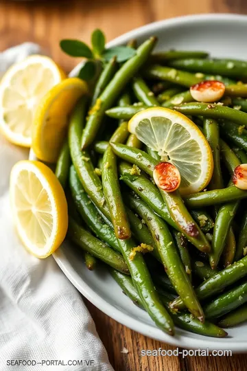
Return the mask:
M167 225L140 199L128 195L128 203L148 225L161 260L163 261L167 276L176 289L176 292L183 298L183 302L189 311L203 322L204 315L202 308L193 291L193 287L185 272L183 262L180 260Z

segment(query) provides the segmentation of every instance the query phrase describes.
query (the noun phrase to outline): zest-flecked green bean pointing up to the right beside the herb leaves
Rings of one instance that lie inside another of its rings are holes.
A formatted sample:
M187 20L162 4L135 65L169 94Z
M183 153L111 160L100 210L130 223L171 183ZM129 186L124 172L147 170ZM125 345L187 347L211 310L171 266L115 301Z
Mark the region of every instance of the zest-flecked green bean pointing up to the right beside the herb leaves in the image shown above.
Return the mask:
M137 73L143 63L145 63L150 52L152 52L155 43L156 38L154 37L145 41L137 49L136 55L127 60L126 63L120 67L102 94L99 95L99 98L91 109L89 118L82 133L82 149L85 149L93 142L101 125L105 111L112 106L116 98L127 85L128 81Z

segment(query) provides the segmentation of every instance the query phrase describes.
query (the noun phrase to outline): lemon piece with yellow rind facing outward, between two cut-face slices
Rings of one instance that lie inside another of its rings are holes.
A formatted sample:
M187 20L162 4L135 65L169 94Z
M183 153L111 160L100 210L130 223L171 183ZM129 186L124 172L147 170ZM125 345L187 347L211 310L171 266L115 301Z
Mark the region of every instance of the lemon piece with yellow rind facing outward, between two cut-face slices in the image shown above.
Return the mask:
M67 78L52 88L38 105L32 133L32 149L38 159L56 162L67 133L69 113L88 92L80 78Z

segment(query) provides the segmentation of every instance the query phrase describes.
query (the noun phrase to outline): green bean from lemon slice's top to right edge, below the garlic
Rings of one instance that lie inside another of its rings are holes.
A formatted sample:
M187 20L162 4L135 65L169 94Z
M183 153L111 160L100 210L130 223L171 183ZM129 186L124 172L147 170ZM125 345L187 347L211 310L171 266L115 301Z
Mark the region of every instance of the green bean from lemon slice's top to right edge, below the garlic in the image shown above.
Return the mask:
M174 106L174 109L184 115L201 115L203 117L226 119L247 126L247 113L231 109L230 107L219 106L218 104L192 102Z

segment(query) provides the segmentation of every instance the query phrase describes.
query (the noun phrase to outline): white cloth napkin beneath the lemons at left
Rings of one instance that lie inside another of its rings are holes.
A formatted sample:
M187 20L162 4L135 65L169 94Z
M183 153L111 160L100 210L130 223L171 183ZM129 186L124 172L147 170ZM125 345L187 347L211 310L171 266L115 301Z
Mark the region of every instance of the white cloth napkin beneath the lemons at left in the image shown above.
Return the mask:
M0 54L1 72L38 52L40 48L32 43L8 49ZM111 371L80 293L52 256L34 258L14 231L10 170L27 156L27 150L12 146L0 135L0 370Z

